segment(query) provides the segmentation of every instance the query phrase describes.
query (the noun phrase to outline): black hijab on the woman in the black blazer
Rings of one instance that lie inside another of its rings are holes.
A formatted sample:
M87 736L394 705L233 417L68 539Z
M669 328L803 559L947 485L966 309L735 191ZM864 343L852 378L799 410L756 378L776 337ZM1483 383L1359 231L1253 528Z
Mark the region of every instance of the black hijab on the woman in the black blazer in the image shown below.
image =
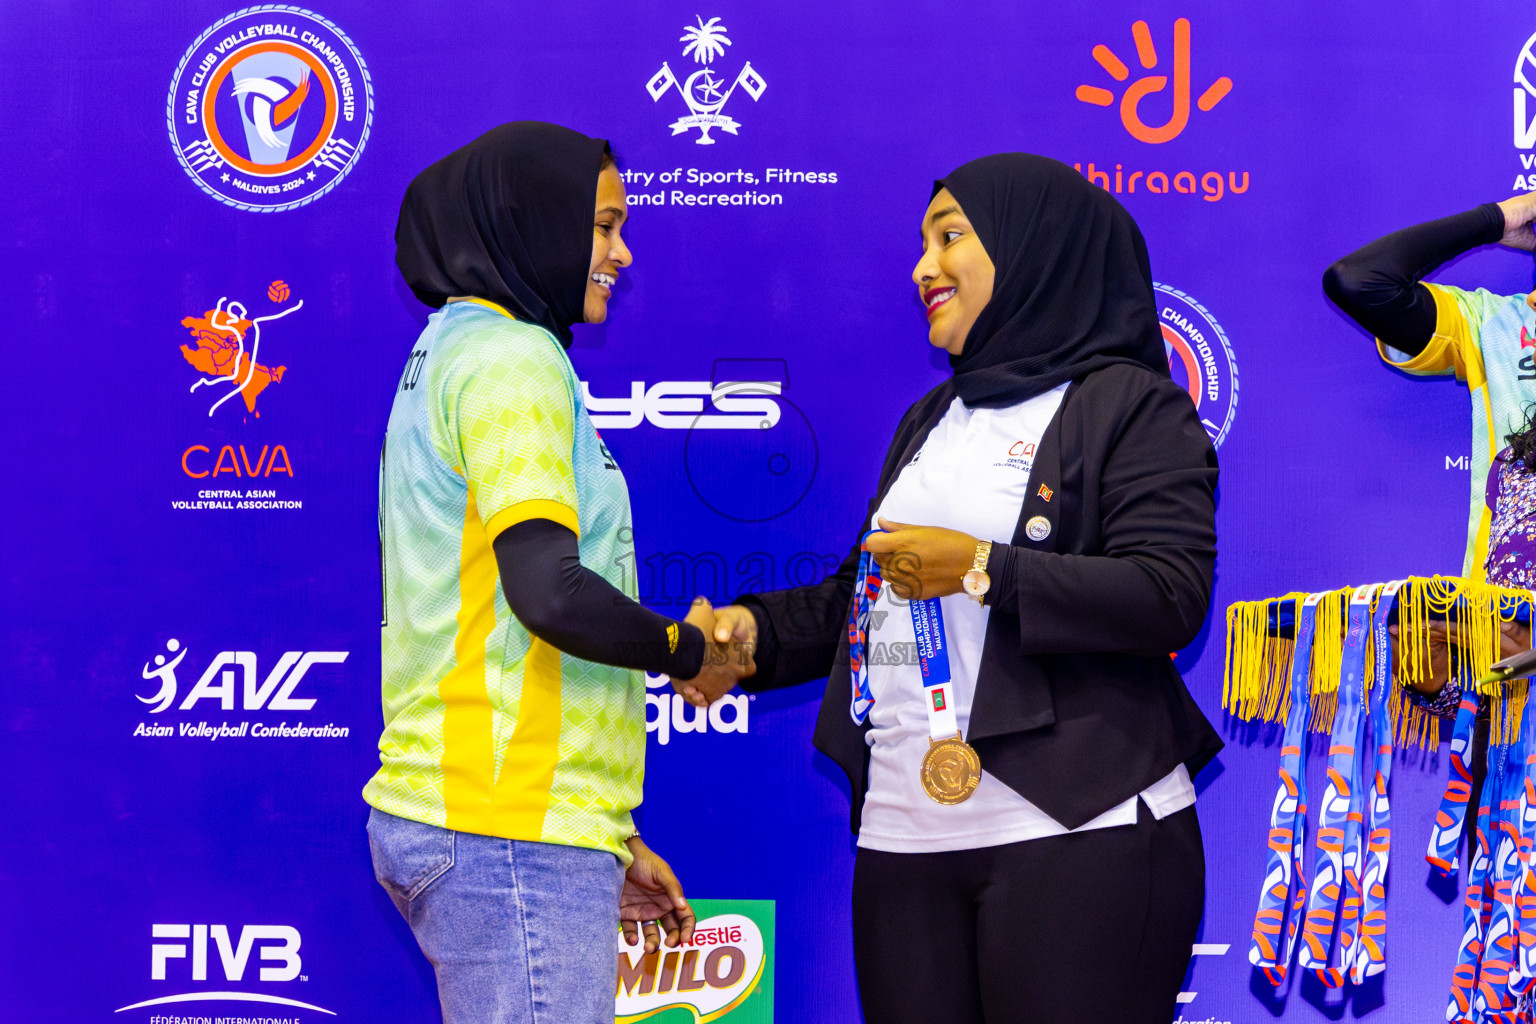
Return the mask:
M1167 376L1141 230L1066 164L997 154L949 189L997 269L992 299L949 356L966 405L1014 405L1115 362Z

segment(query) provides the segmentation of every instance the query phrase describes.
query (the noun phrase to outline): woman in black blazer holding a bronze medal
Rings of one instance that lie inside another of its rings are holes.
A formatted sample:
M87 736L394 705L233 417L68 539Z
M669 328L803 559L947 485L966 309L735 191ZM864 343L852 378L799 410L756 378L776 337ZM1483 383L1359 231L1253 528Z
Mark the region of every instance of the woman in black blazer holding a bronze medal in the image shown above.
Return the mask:
M756 643L748 689L828 677L866 1021L1169 1021L1204 904L1190 775L1221 748L1169 657L1209 608L1215 451L1107 192L985 157L935 183L923 238L954 376L886 454L862 545L883 585L856 545L717 609L716 637ZM943 692L912 657L925 599Z

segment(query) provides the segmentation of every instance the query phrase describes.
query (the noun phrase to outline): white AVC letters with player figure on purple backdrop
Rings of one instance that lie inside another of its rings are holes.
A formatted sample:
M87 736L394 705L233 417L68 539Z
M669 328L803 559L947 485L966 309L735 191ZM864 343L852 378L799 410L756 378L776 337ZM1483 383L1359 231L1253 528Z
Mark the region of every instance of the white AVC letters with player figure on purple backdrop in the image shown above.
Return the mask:
M175 703L180 689L177 669L186 656L187 648L172 637L164 654L144 663L143 677L160 680L160 689L152 695L138 697L141 703L154 705L149 714L160 714ZM309 711L315 699L293 695L304 676L316 665L341 665L346 660L347 651L287 651L263 679L257 671L255 651L220 651L187 691L178 711L192 711L200 700L217 700L224 711L233 711L237 697L244 711Z

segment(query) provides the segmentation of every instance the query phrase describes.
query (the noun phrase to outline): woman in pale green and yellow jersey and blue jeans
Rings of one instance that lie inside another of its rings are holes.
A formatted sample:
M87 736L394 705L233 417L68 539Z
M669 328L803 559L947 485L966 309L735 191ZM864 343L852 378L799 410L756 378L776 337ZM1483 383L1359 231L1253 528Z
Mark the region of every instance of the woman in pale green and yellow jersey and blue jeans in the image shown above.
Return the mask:
M753 671L636 603L628 488L582 404L571 324L630 266L608 144L504 124L406 192L396 263L435 312L406 359L379 479L384 576L375 874L447 1024L611 1021L616 933L693 912L634 829L642 671ZM590 233L588 233L590 232Z

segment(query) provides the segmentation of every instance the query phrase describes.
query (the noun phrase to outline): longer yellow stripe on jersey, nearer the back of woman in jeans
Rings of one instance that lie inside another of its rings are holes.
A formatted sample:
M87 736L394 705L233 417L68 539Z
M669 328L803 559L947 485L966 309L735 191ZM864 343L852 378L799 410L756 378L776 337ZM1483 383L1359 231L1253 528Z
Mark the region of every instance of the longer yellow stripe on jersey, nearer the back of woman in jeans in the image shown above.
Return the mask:
M459 614L453 668L438 682L442 700L442 804L445 827L495 834L490 783L495 775L490 697L485 692L485 642L496 625L496 556L475 508L464 502L459 540Z

